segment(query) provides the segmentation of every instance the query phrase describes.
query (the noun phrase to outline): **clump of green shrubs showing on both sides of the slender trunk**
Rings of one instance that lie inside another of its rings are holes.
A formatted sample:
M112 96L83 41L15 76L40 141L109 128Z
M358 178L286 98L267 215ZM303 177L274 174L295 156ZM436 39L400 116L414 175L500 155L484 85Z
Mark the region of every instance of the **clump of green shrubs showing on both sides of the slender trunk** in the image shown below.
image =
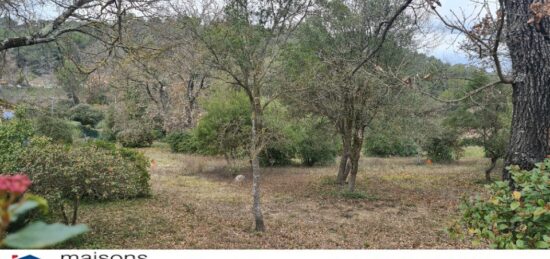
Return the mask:
M224 155L227 159L248 157L252 121L246 94L215 91L204 109L205 115L192 131L165 138L172 151ZM259 153L262 166L290 165L293 158L309 166L334 161L337 144L326 121L295 120L283 104L272 102L264 112L264 126L265 148Z

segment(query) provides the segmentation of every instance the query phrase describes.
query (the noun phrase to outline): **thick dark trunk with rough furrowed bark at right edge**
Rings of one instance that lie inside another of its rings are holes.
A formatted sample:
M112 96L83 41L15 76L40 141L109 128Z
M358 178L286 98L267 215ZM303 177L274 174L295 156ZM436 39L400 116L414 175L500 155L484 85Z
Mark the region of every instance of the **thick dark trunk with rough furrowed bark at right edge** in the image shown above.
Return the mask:
M531 26L529 5L533 0L506 0L507 38L513 69L513 108L511 138L505 158L505 168L518 165L530 170L544 159L548 151L550 113L550 41L541 28L550 28L544 21ZM548 20L545 18L544 20ZM539 29L536 29L536 28ZM502 178L513 181L510 172Z

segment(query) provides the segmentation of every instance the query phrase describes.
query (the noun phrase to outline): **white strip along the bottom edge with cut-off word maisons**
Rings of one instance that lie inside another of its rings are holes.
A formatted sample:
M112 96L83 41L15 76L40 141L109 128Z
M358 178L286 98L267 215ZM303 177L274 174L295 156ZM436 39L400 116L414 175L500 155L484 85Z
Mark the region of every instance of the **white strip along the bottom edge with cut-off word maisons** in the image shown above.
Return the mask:
M531 259L550 250L2 250L0 259Z

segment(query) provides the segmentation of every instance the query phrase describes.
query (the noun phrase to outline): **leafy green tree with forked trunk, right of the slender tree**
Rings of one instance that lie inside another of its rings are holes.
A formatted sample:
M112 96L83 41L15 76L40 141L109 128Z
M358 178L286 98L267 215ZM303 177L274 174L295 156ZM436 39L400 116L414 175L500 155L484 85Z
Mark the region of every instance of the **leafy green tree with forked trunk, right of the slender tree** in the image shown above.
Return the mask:
M329 118L342 139L337 182L355 190L365 128L402 87L398 73L411 43L412 1L318 1L289 44L289 75L302 89L290 99Z

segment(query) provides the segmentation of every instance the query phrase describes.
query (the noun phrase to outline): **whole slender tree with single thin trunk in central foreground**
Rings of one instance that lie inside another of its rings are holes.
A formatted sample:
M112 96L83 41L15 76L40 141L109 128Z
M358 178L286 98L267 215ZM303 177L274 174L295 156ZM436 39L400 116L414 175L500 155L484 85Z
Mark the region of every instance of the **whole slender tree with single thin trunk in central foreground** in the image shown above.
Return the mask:
M281 46L304 18L310 1L227 0L223 13L189 19L193 35L210 54L208 65L219 80L242 89L252 110L250 160L252 211L256 231L264 231L260 204L260 161L266 144L263 112L271 97L278 96L270 80L276 73ZM202 8L205 13L206 8ZM186 15L194 15L187 12Z

